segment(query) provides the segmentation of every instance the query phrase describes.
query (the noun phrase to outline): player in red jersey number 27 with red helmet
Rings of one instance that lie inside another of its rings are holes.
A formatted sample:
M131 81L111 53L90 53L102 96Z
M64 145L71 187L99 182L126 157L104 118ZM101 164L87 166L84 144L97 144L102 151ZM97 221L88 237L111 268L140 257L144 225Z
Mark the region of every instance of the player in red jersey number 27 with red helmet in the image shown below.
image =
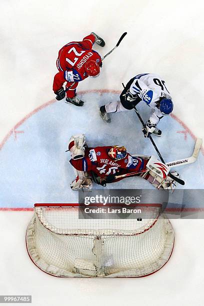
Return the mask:
M78 82L88 76L98 76L102 66L100 55L92 50L94 42L100 46L105 45L104 40L92 32L82 41L69 42L59 50L56 60L59 72L55 74L53 80L53 91L57 100L63 99L66 92L66 103L83 105L83 101L76 97ZM64 82L66 90L63 88Z

